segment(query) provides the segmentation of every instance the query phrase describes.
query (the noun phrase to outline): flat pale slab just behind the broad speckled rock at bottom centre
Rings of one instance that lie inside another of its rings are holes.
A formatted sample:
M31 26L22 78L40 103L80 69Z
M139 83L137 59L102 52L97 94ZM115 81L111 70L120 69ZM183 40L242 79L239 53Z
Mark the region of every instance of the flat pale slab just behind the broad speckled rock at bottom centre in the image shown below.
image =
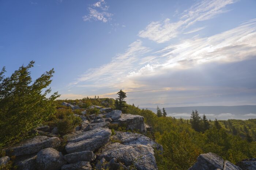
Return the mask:
M163 147L157 142L138 133L116 131L116 134L112 136L112 139L120 141L123 145L141 144L163 151Z

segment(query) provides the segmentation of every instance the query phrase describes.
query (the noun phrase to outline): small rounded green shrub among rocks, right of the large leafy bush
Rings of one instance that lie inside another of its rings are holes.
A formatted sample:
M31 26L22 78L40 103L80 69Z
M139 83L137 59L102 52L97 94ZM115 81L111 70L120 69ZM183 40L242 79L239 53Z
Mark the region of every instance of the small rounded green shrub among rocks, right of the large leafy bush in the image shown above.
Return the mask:
M61 135L71 133L75 127L81 124L82 119L76 116L67 116L57 123L58 132Z

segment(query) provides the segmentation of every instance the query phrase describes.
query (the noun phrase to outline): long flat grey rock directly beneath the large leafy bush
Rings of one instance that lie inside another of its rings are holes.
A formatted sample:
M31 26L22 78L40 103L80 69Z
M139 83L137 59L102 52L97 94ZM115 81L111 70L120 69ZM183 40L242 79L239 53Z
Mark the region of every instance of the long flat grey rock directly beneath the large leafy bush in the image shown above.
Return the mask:
M8 153L15 156L37 153L41 149L48 147L56 148L60 146L60 139L57 137L48 138L46 136L36 136L25 142L19 143L18 146L11 147Z

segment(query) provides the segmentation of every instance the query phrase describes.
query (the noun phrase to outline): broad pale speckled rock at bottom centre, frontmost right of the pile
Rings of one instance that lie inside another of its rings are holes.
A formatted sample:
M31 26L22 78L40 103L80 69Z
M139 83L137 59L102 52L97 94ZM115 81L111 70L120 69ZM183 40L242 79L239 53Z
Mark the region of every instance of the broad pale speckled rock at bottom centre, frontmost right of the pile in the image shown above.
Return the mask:
M125 166L134 165L136 169L155 170L157 164L154 157L154 149L150 146L133 144L122 145L120 143L110 143L104 146L98 154L98 158L105 158L110 161L116 158L123 162Z

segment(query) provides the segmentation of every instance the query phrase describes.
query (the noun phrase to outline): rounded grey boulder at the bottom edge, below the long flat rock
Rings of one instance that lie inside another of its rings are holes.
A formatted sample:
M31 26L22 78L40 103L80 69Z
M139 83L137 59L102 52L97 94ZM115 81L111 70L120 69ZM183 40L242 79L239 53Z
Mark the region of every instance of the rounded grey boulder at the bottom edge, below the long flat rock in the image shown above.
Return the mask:
M39 151L36 162L38 170L59 170L62 165L67 163L61 152L53 148L46 148Z

